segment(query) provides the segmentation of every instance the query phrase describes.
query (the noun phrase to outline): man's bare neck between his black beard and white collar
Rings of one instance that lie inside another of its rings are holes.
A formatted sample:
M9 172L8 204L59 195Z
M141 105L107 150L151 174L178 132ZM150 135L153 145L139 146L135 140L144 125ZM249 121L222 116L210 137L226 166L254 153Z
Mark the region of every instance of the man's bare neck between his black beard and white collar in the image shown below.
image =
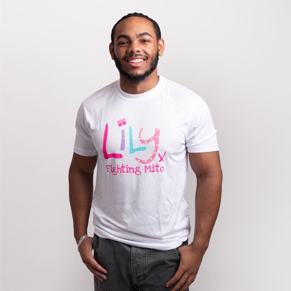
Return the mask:
M123 75L120 74L120 88L123 92L128 94L141 94L150 91L157 86L159 82L159 76L157 71L152 72L143 81L131 82L128 81Z

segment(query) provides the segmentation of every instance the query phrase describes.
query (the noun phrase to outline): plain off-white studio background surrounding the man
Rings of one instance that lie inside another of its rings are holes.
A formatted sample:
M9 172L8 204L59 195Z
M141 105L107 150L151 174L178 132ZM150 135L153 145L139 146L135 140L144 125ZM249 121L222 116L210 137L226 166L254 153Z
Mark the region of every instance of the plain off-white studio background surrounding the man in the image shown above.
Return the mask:
M111 28L132 12L160 25L158 74L200 95L217 129L221 209L190 291L290 290L290 8L2 0L1 290L93 290L68 199L74 124L81 102L118 79ZM189 172L192 226L194 189Z

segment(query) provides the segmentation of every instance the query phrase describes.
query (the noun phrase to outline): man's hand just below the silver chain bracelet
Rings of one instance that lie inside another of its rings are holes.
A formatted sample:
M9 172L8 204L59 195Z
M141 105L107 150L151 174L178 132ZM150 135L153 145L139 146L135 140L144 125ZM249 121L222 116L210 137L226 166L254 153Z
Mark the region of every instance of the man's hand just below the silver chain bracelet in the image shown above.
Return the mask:
M81 259L86 267L90 270L90 272L93 273L94 276L99 278L101 281L103 281L103 279L107 279L107 277L104 275L104 273L107 274L107 271L102 268L93 258L92 239L92 237L86 237L80 244L79 251Z

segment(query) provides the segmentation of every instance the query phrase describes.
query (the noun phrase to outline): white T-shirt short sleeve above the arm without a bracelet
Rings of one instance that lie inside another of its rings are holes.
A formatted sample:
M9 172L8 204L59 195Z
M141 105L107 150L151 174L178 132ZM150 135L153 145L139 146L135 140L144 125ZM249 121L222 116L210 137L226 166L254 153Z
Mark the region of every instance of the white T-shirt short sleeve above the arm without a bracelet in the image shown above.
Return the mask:
M210 110L202 99L195 102L192 121L185 142L188 152L218 151L216 130Z

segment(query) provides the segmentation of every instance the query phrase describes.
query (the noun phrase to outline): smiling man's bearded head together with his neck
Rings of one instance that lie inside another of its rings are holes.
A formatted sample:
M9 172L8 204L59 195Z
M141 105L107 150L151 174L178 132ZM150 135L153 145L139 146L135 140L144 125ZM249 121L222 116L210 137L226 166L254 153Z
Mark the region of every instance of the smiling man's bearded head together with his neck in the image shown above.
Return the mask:
M149 91L159 81L157 64L159 56L163 55L164 40L157 23L149 22L143 17L128 17L112 29L109 51L120 72L121 89L130 94ZM146 28L148 31L144 31ZM137 91L132 86L133 82L136 85L140 83Z

